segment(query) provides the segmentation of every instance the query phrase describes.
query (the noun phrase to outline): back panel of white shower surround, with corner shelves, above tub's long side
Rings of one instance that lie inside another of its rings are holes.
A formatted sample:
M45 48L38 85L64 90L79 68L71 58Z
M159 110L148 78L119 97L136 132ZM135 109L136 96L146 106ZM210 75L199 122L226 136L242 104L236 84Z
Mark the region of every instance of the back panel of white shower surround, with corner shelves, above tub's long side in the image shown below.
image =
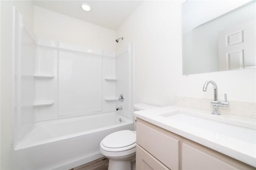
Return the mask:
M113 111L116 100L104 100L116 96L115 83L104 80L116 77L113 53L51 43L36 49L35 121Z

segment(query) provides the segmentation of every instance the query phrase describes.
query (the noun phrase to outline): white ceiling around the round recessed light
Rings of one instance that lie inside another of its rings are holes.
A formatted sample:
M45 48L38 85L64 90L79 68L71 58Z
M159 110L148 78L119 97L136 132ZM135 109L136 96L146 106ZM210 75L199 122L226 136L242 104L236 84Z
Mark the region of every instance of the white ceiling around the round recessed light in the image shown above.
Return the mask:
M82 10L83 2L90 4L92 8L90 12ZM34 4L98 26L117 30L141 2L142 0L35 0Z

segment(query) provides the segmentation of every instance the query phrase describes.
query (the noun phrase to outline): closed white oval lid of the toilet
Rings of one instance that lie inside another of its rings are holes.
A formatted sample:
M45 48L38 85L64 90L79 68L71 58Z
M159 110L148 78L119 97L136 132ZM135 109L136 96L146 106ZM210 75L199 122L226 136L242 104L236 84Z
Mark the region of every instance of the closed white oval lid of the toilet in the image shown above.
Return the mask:
M120 130L109 134L102 140L107 148L122 148L136 143L136 134L131 130Z

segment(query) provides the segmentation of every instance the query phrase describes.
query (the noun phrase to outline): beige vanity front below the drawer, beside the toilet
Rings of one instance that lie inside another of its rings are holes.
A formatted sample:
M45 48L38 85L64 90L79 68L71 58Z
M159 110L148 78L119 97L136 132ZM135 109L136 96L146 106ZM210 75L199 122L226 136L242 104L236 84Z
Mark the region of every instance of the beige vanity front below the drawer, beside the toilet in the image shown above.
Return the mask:
M146 150L136 145L136 170L170 170Z

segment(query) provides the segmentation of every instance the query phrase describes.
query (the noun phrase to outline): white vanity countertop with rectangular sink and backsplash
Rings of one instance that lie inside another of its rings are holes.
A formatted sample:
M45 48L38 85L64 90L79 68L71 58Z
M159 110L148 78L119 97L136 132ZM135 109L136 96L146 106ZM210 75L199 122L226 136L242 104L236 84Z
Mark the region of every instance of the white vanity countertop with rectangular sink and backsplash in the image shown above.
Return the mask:
M172 121L168 118L168 115L174 115L175 112L204 118L202 120L210 119L213 123L218 121L216 125L225 125L230 129L238 129L238 131L231 130L229 132L223 129L222 133L222 129L217 126L216 132L214 132L214 130L209 131L193 125L193 122ZM180 106L136 111L134 116L256 167L256 119L224 113L222 115L212 115L211 111ZM248 134L246 134L247 132ZM228 135L225 133L228 133ZM241 134L241 136L238 134Z

